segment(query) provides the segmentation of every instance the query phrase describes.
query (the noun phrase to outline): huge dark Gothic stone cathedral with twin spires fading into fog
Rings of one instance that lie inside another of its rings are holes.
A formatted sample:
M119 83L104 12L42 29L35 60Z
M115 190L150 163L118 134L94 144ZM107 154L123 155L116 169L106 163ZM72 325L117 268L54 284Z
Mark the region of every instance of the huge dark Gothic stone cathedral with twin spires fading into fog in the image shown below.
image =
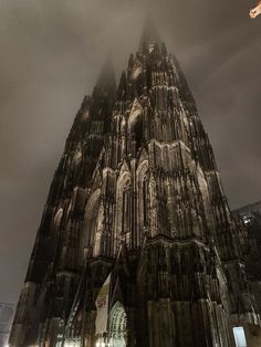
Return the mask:
M108 60L54 174L11 347L258 347L247 232L175 55Z

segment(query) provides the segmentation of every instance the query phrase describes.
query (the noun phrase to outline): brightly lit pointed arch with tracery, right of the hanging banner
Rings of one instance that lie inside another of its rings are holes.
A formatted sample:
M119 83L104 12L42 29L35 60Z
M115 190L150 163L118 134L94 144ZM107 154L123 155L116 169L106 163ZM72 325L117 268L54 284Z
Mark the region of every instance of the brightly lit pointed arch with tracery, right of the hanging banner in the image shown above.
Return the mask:
M116 302L109 315L109 346L127 346L127 315L119 302Z

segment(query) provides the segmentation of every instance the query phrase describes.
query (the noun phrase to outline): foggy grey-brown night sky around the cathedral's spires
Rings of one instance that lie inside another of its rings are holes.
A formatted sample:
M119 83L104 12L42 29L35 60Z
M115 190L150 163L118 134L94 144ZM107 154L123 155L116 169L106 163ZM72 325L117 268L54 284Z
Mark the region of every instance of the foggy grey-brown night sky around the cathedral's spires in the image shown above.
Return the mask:
M0 302L17 302L74 115L146 13L175 53L230 207L261 200L261 15L250 0L0 0Z

